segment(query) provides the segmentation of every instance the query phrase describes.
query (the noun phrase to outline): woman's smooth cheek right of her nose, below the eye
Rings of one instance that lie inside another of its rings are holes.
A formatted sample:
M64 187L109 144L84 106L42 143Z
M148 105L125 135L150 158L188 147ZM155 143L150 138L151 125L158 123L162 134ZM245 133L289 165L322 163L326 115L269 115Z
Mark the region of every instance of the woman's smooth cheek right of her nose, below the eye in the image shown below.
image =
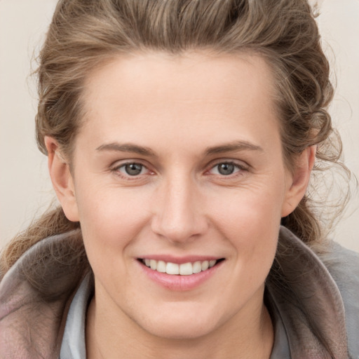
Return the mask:
M238 270L265 278L276 253L282 187L243 189L222 199L212 218L222 237L231 243Z

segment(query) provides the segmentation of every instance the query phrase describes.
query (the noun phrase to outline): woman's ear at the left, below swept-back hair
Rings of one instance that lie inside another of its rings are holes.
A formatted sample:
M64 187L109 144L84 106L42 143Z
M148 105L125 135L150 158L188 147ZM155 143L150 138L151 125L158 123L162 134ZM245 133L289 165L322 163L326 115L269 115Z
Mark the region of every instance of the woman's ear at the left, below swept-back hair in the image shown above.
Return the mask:
M48 171L56 196L61 203L67 219L72 222L79 221L74 179L70 172L69 163L60 153L57 141L53 137L45 136L46 149L48 150Z

